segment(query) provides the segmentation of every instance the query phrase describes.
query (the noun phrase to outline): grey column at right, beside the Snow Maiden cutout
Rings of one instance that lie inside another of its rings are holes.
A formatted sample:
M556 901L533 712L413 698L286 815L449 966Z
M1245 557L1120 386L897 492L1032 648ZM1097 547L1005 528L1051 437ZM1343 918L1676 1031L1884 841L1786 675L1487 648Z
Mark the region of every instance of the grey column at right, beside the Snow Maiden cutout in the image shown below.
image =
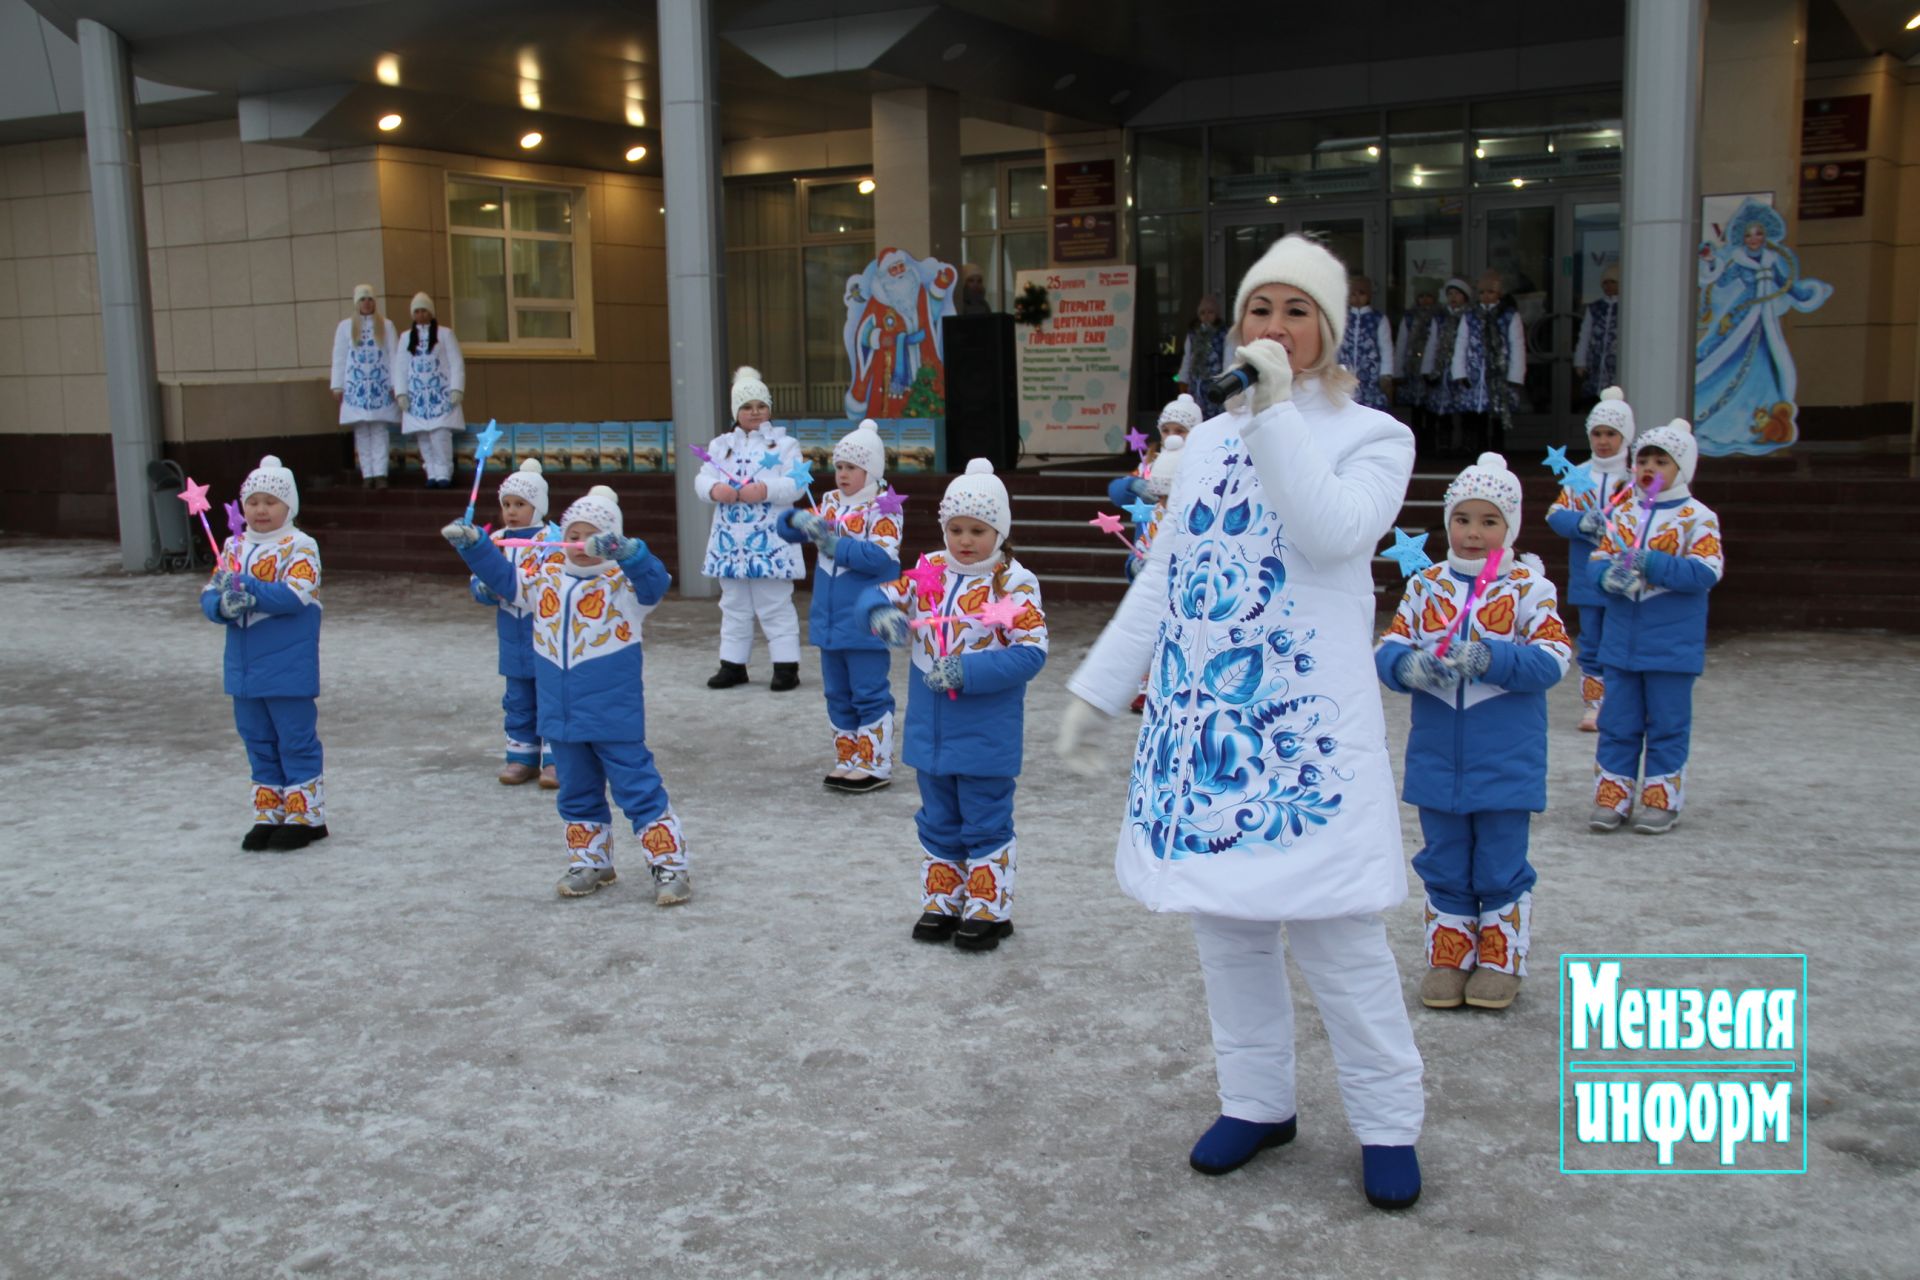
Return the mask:
M1626 175L1620 192L1620 386L1634 416L1693 416L1705 0L1626 4Z

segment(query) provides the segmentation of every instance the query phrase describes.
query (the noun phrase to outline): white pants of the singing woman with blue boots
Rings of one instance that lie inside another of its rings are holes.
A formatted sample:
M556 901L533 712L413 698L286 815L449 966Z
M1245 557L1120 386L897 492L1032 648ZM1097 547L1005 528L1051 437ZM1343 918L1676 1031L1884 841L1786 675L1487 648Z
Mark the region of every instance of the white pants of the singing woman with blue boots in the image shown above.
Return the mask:
M1219 1111L1273 1125L1292 1117L1294 1000L1279 921L1194 915L1213 1019ZM1379 915L1286 921L1294 963L1319 1006L1346 1123L1363 1146L1413 1146L1427 1098L1400 969Z

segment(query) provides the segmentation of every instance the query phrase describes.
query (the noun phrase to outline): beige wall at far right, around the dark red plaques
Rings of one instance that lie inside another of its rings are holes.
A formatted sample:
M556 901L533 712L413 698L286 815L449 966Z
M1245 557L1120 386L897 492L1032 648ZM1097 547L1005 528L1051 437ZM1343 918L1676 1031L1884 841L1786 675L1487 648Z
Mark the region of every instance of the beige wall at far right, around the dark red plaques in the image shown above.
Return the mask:
M1801 269L1834 286L1809 315L1784 317L1801 405L1874 405L1914 395L1920 338L1920 71L1891 58L1811 67L1807 98L1872 94L1866 215L1799 221Z

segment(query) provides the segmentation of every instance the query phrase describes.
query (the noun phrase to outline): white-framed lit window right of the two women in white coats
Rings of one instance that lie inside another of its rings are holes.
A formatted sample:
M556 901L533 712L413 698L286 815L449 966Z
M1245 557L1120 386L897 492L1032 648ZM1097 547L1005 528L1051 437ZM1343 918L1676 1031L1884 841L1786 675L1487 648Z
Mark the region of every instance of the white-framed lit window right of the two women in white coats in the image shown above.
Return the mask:
M591 355L582 192L447 177L453 332L468 351Z

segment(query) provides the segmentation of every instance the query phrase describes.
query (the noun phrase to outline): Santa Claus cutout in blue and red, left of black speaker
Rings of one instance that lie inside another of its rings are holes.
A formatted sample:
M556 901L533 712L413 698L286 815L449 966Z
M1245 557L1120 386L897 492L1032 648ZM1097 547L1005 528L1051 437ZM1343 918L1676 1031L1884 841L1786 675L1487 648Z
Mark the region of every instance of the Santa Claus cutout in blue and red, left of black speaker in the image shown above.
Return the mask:
M933 403L947 401L941 322L954 313L960 273L933 257L881 249L847 276L849 418L904 418L914 380L925 376ZM924 399L927 399L924 395Z

